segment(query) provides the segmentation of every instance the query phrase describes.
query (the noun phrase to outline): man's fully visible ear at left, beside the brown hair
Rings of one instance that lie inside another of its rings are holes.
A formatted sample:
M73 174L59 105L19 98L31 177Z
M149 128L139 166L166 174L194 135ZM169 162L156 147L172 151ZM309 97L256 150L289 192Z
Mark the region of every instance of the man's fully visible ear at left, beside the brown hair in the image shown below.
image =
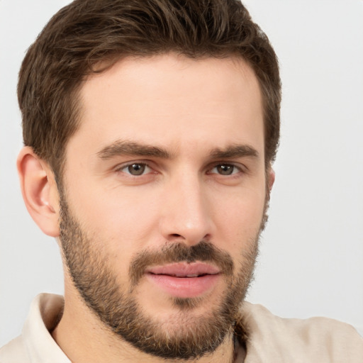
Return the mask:
M17 160L18 175L26 208L46 235L58 237L59 195L52 169L31 147L23 147Z

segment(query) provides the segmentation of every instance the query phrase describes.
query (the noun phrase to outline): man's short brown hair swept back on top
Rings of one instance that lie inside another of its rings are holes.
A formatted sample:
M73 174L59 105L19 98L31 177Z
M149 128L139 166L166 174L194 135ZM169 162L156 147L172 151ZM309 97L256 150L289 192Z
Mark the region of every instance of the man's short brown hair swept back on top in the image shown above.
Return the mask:
M79 125L77 91L100 63L130 55L237 55L254 69L264 104L266 165L279 143L281 84L267 36L239 0L75 0L30 46L18 82L23 140L61 177ZM97 69L97 70L96 70Z

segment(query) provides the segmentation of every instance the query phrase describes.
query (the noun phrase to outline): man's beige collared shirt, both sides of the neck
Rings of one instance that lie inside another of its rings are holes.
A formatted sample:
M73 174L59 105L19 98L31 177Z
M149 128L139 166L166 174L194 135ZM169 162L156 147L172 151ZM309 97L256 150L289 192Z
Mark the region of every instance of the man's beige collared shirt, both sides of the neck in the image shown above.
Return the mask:
M62 306L62 296L37 296L21 335L0 349L0 363L71 363L49 333ZM244 303L237 333L242 325L247 331L245 363L363 363L363 337L336 320L284 319ZM242 362L238 358L236 363Z

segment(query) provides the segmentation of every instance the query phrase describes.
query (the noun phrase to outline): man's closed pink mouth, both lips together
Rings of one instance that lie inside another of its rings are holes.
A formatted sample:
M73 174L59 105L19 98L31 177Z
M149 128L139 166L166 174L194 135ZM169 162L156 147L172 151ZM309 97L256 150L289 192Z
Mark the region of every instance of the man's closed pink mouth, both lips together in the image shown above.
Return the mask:
M152 284L178 298L194 298L211 291L220 279L220 270L203 262L179 262L150 267L145 272Z

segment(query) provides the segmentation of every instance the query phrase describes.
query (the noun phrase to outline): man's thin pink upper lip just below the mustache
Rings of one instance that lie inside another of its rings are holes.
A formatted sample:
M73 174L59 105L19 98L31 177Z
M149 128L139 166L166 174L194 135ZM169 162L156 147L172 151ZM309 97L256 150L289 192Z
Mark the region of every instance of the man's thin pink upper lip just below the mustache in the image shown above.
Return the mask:
M201 275L219 274L220 270L211 264L203 262L178 262L172 264L164 264L162 266L154 266L146 269L146 273L155 275L169 275L174 277L197 277Z

